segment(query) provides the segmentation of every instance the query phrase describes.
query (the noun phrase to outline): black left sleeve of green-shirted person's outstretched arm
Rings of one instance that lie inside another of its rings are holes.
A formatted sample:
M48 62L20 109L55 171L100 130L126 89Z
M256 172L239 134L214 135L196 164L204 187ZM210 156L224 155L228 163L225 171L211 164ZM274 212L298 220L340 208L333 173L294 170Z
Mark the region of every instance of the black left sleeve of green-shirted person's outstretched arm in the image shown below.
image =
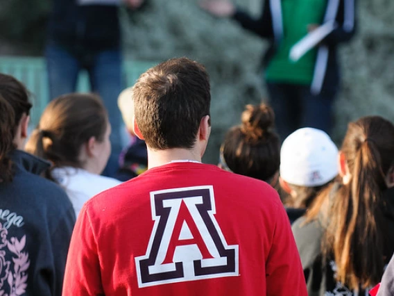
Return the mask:
M237 8L232 18L239 22L243 28L263 38L273 38L272 15L268 0L264 1L262 15L258 19L250 17L248 13L245 13L239 8Z

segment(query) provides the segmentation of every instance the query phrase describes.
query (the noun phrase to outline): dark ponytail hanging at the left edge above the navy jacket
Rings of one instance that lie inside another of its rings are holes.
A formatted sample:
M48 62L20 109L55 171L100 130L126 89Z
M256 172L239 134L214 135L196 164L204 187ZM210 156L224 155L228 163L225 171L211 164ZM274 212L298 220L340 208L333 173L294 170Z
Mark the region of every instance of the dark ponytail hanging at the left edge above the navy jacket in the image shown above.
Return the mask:
M12 181L12 163L9 158L13 144L15 113L12 106L0 95L0 183Z

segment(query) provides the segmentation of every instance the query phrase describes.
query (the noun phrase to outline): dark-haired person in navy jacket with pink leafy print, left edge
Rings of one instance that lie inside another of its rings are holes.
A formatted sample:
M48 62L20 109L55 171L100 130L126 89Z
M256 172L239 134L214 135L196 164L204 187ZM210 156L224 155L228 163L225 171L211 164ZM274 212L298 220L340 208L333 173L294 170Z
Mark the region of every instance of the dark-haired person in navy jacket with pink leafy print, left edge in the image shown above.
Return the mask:
M49 163L22 151L31 104L24 85L0 74L0 295L61 295L71 202L40 176Z

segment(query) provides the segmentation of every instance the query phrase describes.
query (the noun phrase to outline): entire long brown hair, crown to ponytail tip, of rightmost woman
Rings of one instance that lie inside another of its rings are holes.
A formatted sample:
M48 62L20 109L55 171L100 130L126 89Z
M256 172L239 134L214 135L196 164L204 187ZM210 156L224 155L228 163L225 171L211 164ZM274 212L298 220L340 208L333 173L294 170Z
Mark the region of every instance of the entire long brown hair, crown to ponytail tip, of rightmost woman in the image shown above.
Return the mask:
M307 214L323 217L323 252L332 254L336 279L349 288L366 288L382 278L384 257L394 242L388 236L382 192L394 165L394 125L382 117L361 117L348 125L341 148L350 180L325 190ZM386 233L386 234L385 234Z

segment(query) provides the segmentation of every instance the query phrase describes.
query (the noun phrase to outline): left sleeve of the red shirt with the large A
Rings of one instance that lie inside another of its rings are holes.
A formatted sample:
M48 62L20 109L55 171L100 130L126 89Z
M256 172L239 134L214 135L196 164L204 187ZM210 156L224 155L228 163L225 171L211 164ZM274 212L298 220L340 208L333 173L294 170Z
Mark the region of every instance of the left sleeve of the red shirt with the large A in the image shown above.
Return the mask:
M85 205L71 236L62 296L95 295L104 293L96 239Z

